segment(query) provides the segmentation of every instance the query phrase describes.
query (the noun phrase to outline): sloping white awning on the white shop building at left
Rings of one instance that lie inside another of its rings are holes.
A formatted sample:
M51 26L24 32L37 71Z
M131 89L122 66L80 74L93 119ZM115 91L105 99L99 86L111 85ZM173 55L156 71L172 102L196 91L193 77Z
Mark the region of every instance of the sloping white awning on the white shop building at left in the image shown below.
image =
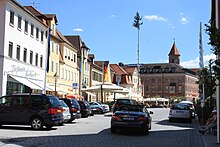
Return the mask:
M42 87L40 87L39 85L31 82L30 80L28 80L25 77L18 77L18 76L14 76L14 75L10 75L10 77L12 77L13 79L15 79L16 81L18 81L19 83L22 83L24 85L26 85L27 87L30 87L31 89L37 89L37 90L43 90Z

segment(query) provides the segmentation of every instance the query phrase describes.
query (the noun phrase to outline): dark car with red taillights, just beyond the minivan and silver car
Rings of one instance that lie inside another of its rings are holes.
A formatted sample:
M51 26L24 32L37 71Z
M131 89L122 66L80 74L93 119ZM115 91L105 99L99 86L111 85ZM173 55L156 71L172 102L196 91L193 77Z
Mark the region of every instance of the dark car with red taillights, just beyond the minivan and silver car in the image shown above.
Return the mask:
M63 100L70 108L71 118L68 122L72 122L75 119L81 118L80 105L75 98L59 98Z

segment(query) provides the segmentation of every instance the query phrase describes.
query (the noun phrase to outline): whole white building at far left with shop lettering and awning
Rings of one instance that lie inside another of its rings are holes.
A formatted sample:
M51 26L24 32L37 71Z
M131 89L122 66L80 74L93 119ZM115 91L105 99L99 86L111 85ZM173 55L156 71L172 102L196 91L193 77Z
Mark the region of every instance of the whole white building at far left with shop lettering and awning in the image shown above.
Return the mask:
M42 92L47 25L15 0L1 0L0 28L0 95Z

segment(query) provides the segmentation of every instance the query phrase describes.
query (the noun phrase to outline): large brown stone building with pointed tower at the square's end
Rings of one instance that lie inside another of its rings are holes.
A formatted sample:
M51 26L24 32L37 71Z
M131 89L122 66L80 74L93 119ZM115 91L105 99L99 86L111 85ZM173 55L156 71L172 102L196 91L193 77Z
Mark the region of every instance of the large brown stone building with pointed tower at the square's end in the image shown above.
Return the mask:
M142 64L140 75L144 98L197 99L198 77L194 71L180 66L179 63L180 54L174 42L169 53L169 63Z

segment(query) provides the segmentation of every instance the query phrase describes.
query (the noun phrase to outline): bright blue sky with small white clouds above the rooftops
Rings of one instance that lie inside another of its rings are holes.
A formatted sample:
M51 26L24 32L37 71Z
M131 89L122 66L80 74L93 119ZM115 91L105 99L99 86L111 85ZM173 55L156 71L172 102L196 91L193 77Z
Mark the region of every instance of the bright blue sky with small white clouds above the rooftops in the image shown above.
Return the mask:
M205 31L211 0L17 1L34 6L42 14L56 14L58 30L63 35L80 35L97 61L138 63L138 30L133 26L137 12L143 22L139 31L140 63L168 63L175 42L180 65L198 68L200 22L205 65L215 59Z

